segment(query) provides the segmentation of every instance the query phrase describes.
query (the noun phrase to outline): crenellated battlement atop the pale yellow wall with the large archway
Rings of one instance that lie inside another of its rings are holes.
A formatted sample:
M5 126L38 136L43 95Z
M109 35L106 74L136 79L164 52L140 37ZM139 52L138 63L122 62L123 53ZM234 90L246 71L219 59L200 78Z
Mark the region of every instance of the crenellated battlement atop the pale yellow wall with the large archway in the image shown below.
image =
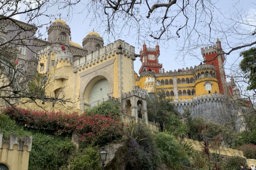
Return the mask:
M114 43L110 43L105 47L88 54L86 57L74 61L74 72L91 67L92 65L102 62L107 58L111 58L116 54L124 54L127 58L135 60L134 53L135 48L133 46L123 40L117 40Z

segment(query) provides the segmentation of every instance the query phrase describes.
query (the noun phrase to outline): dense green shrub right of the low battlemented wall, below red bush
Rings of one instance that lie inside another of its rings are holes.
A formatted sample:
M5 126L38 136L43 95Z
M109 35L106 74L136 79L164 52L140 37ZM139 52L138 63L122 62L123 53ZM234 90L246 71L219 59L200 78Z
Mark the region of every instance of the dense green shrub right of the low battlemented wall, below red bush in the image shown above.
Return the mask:
M70 139L35 133L28 170L59 170L60 167L67 167L67 159L73 151Z

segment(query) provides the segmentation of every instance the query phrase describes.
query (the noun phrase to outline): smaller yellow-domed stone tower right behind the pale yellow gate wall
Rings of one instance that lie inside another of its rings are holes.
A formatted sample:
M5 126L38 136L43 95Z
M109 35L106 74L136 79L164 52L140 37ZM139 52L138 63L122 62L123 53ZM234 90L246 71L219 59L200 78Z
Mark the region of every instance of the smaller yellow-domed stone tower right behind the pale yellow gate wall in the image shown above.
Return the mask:
M93 51L97 51L104 46L104 42L100 34L91 31L83 39L83 48L90 54Z

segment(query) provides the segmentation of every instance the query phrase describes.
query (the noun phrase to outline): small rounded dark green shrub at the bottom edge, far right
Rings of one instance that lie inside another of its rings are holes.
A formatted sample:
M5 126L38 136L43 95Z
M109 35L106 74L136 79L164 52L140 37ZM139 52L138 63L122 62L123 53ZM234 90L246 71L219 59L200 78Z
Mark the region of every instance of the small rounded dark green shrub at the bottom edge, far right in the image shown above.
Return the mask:
M229 160L226 162L226 165L224 168L228 168L228 170L240 170L240 167L246 166L246 160L245 158L239 157L239 156L231 156Z

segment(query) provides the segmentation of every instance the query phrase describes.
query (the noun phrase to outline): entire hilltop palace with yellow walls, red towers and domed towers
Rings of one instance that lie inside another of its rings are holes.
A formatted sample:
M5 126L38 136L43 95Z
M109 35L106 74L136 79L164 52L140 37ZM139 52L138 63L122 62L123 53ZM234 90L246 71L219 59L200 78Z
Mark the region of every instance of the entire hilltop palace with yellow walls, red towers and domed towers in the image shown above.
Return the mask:
M7 21L5 29L11 31L15 27ZM221 122L240 112L235 105L226 103L227 96L239 98L239 90L232 78L231 82L226 81L219 39L216 46L201 49L203 58L209 62L165 72L158 63L158 44L147 48L144 43L140 54L135 54L135 48L122 40L104 46L102 37L93 31L83 38L81 46L71 40L70 27L60 19L49 26L45 41L31 38L36 28L29 27L30 31L17 33L25 44L33 45L17 48L19 65L28 63L28 76L37 72L46 75L46 95L70 99L70 103L64 104L66 108L83 111L105 100L119 100L124 113L147 120L145 97L163 89L180 113L188 108L193 116ZM2 31L1 42L13 34ZM133 68L136 58L142 63L139 75Z

